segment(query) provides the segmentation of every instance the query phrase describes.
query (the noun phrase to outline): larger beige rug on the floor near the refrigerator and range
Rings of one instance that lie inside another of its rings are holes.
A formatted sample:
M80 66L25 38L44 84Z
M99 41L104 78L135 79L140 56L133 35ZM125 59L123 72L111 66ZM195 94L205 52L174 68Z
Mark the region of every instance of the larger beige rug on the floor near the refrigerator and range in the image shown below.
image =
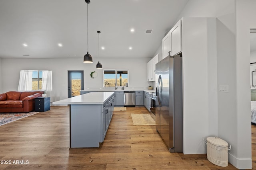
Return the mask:
M133 125L156 125L150 114L131 114Z

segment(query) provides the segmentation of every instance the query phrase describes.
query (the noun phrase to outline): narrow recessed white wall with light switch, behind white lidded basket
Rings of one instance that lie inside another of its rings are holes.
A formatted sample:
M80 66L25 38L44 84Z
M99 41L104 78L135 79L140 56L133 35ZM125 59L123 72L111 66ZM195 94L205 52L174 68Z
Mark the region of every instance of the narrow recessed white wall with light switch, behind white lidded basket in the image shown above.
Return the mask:
M234 4L232 4L234 8ZM235 14L222 16L217 20L217 66L218 86L228 85L228 92L218 91L218 137L232 145L229 155L236 155L236 37L226 25L232 21L235 28ZM229 156L230 157L230 156Z

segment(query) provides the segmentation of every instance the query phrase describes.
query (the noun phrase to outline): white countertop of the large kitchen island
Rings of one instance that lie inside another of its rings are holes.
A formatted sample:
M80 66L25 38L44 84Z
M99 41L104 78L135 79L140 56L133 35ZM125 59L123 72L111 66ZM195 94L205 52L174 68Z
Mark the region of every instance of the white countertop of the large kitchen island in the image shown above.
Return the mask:
M114 92L90 92L87 94L82 94L72 98L67 98L64 100L59 100L53 102L56 105L66 105L66 104L103 104Z

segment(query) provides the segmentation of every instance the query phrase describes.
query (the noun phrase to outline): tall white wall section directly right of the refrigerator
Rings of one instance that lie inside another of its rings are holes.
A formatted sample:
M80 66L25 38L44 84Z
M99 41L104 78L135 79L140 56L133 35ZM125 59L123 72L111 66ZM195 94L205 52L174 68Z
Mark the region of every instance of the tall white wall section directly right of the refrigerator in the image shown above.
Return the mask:
M218 135L216 18L182 18L184 154Z

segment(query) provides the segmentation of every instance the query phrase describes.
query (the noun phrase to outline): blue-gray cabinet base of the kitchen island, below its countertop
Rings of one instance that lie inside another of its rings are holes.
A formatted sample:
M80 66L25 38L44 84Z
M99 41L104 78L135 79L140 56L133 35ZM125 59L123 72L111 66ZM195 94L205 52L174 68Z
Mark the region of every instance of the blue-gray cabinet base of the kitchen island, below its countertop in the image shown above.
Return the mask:
M114 111L114 94L104 104L70 105L70 148L100 147Z

